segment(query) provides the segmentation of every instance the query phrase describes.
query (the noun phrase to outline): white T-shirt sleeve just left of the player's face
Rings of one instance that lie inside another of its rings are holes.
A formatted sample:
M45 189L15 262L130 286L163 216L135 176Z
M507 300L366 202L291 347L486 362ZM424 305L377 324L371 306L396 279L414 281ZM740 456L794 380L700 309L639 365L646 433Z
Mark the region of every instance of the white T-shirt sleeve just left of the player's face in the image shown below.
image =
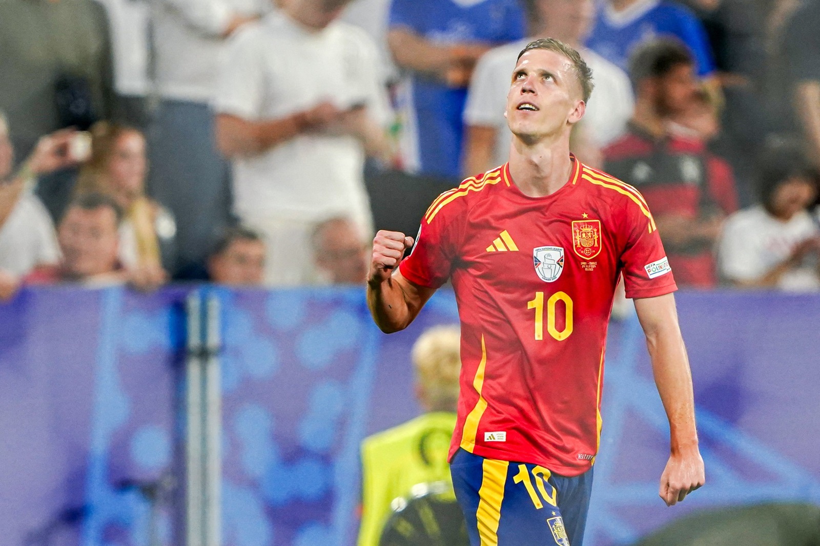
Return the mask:
M464 107L464 123L467 125L496 128L506 126L504 99L507 93L504 89L499 89L499 81L508 83L508 78L505 77L508 75L503 75L499 70L499 62L495 61L494 52L495 50L490 51L481 57L472 74L467 104ZM508 72L512 74L512 66L508 68Z

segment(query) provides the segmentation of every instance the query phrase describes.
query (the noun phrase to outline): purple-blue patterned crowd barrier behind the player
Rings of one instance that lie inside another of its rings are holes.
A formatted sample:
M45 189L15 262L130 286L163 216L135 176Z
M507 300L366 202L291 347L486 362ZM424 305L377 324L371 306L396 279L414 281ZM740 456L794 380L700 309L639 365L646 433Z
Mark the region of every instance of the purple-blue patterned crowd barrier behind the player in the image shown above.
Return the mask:
M2 544L185 543L185 301L220 303L221 543L349 546L361 440L417 415L409 350L362 289L25 289L0 304ZM668 427L635 316L613 321L587 546L676 516L820 503L820 297L678 294L708 484L658 498Z

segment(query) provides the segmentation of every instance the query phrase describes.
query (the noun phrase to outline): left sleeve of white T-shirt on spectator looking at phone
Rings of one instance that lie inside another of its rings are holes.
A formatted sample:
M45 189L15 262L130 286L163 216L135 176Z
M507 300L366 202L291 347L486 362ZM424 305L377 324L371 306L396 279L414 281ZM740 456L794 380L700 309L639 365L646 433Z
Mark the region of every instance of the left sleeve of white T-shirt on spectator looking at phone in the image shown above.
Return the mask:
M217 112L247 120L259 117L265 89L257 38L254 25L240 30L226 44L216 75L214 108Z

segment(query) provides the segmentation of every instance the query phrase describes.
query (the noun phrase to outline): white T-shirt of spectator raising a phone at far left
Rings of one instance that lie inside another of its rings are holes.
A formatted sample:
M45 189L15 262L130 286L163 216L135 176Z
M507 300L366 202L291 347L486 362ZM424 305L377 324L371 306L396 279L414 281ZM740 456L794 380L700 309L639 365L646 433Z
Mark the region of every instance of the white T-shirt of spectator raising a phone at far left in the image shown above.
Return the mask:
M59 261L51 216L38 198L25 193L0 226L0 269L22 276Z

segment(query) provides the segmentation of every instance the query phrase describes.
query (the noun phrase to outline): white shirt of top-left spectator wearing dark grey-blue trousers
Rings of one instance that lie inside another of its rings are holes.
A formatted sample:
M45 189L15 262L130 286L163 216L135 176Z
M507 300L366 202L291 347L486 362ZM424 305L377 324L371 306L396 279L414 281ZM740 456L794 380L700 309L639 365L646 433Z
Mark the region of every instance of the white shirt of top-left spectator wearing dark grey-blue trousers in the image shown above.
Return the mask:
M157 91L163 98L210 102L216 67L234 16L255 16L271 0L157 0L153 17Z

